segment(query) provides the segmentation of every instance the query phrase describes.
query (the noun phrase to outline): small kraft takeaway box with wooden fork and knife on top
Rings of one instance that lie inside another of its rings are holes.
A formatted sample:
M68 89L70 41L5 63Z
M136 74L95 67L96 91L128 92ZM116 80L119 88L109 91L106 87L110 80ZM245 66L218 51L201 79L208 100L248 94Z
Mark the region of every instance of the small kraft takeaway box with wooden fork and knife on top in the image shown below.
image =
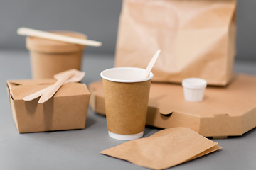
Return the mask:
M85 84L68 83L46 103L23 101L25 96L46 88L55 79L9 80L11 113L19 133L85 128L90 92Z

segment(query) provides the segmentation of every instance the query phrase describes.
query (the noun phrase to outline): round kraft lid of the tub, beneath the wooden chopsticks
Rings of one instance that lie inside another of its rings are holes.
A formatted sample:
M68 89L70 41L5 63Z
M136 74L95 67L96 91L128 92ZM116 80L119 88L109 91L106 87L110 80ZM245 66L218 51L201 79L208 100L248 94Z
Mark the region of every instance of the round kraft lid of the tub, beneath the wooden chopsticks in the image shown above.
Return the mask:
M52 33L57 33L60 35L67 35L73 38L87 39L87 36L82 33L76 33L72 31L50 31ZM85 45L78 45L69 42L60 42L55 40L48 40L43 38L36 38L28 36L26 38L26 48L31 51L36 52L46 52L46 53L66 53L66 52L76 52L83 50Z

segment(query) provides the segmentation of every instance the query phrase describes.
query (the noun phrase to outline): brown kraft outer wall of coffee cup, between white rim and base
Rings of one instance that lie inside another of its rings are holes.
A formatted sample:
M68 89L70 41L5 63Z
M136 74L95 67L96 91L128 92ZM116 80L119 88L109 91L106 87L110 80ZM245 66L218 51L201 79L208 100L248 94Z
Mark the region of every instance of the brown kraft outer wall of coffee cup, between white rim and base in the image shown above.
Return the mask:
M103 80L107 129L121 135L143 132L151 80L120 83Z

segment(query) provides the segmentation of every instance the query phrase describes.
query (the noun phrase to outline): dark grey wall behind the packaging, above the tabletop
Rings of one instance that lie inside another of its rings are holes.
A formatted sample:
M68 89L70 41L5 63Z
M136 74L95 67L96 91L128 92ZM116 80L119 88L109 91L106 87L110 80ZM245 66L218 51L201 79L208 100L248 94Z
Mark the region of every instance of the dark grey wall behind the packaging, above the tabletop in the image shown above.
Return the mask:
M85 33L102 47L86 52L114 54L121 0L0 0L0 50L26 50L17 28L72 30ZM256 60L256 1L238 0L237 59Z

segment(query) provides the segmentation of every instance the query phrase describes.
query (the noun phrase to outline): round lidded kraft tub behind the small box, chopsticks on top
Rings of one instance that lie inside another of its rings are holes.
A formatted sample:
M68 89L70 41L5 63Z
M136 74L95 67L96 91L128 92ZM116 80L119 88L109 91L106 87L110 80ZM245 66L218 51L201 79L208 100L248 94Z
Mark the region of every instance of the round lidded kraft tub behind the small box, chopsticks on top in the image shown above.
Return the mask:
M68 31L55 33L87 39L82 33ZM54 74L68 69L81 69L84 45L28 37L26 47L30 50L33 79L50 79Z

